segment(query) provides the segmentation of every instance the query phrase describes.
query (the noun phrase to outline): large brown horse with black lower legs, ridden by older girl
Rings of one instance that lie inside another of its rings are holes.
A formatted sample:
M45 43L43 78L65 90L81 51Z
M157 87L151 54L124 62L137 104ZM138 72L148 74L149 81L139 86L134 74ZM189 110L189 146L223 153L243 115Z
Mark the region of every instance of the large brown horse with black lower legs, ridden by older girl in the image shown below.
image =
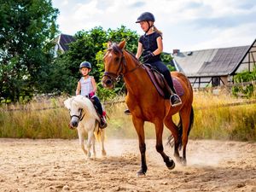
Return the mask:
M174 161L168 157L163 148L162 135L164 125L172 131L174 137L174 156L178 161L186 164L186 146L188 143L189 131L193 124L194 113L192 108L193 90L182 73L172 73L172 78L177 79L183 87L184 94L181 96L182 105L172 107L169 100L165 100L154 88L143 65L137 58L125 50L125 41L119 44L108 44L108 51L103 58L105 73L102 84L106 88L113 88L113 84L120 78L125 79L128 94L125 102L131 111L132 122L137 131L139 148L141 152L141 169L138 175L147 172L146 145L144 135L144 122L149 121L155 125L156 150L166 162L169 169L175 166ZM175 125L172 115L179 113L180 123ZM183 145L183 157L179 156L178 148Z

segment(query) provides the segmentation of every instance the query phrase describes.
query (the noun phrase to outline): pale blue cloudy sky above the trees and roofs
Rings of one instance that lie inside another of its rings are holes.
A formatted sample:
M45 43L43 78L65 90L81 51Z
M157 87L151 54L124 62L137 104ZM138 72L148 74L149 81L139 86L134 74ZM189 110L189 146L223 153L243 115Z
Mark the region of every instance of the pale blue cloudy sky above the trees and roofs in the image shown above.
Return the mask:
M135 23L151 12L163 32L164 51L225 48L253 44L256 0L52 0L61 33L74 35L95 26L120 26L143 35Z

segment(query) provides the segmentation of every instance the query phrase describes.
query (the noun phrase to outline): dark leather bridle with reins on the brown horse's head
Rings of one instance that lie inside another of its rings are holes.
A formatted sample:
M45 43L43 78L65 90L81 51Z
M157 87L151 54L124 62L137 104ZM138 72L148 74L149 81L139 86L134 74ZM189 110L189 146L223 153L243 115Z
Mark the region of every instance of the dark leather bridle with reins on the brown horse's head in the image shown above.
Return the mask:
M111 72L104 72L103 77L108 77L108 79L110 79L113 82L119 82L120 79L122 79L123 77L125 77L125 75L127 73L132 73L134 72L138 67L141 67L142 64L138 64L136 67L132 68L129 71L126 71L125 73L122 73L124 68L127 66L127 63L125 61L125 55L122 49L119 48L119 46L117 44L113 44L109 49L107 49L107 51L111 51L113 50L114 53L116 54L121 54L121 59L119 61L119 68L117 70L117 73L111 73ZM129 53L133 59L137 58L131 54L128 50L125 50L127 53Z

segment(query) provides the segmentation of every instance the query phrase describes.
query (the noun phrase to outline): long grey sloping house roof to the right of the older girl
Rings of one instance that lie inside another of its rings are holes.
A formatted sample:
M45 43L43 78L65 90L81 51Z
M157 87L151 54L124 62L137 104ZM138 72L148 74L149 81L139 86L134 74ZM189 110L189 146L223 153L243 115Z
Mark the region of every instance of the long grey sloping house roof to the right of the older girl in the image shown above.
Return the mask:
M188 77L226 76L235 73L250 45L178 52L173 55Z

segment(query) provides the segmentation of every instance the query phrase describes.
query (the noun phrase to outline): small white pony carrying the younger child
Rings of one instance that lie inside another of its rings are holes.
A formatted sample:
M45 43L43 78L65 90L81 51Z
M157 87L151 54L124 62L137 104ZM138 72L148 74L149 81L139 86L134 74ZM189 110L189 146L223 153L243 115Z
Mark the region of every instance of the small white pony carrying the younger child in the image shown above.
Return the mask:
M104 148L104 139L105 131L99 128L100 118L96 113L96 109L93 106L93 103L90 99L85 96L73 96L64 101L65 107L69 110L70 113L70 123L69 126L71 129L77 128L79 134L79 144L84 151L84 154L87 155L87 158L90 159L91 153L90 148L92 145L93 158L96 157L95 150L95 136L97 140L100 140L102 143L102 156L106 155ZM88 133L87 140L87 150L84 148L84 137ZM100 139L99 139L100 138Z

